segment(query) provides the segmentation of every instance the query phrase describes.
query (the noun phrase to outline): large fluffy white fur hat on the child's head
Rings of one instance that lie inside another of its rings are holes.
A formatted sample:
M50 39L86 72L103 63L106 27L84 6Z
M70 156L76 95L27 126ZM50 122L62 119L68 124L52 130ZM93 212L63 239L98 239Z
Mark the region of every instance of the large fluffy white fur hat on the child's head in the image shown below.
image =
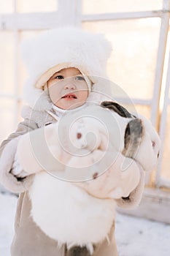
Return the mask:
M97 89L95 85L98 84L98 78L107 78L106 64L112 50L101 34L74 27L46 31L23 42L21 49L29 75L24 89L25 99L31 107L42 94L42 87L47 80L66 67L79 69L82 75L87 76L88 87L89 78L93 89Z

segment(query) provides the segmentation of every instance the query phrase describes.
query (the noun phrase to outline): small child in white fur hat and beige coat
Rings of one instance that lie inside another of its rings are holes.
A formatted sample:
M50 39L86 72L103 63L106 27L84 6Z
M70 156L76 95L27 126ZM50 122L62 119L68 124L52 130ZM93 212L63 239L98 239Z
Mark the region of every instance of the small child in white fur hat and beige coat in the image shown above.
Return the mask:
M104 98L101 95L109 94L109 87L100 84L100 78L106 78L111 47L101 35L74 28L47 31L29 40L24 47L23 57L29 71L25 87L28 106L23 109L24 121L18 124L17 131L1 144L1 183L12 192L20 193L11 255L65 256L66 245L58 246L30 216L28 187L34 178L34 170L32 175L22 170L15 152L21 135L53 124L66 110L78 110L89 101L100 102ZM131 190L129 187L129 194ZM134 199L134 192L131 195ZM121 203L131 202L131 195L121 198ZM114 230L113 223L110 243L106 238L96 244L94 256L117 255Z

